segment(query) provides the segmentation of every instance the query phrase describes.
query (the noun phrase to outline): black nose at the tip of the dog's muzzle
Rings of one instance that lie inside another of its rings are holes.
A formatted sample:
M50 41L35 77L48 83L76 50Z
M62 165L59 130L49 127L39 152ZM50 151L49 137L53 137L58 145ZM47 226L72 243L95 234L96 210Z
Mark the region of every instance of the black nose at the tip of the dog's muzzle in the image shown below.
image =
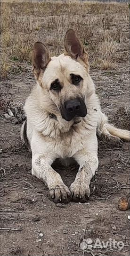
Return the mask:
M67 101L65 104L65 109L70 114L78 114L81 109L81 102L77 99Z

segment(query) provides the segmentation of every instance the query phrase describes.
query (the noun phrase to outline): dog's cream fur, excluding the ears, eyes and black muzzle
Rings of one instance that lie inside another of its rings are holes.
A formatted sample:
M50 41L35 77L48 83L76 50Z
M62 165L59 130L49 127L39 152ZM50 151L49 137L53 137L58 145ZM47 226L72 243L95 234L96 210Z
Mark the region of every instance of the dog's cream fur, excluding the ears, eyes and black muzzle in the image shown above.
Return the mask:
M69 81L70 73L83 77L80 88ZM35 74L35 72L34 72ZM27 137L32 149L32 175L42 179L55 202L85 201L90 195L90 180L98 169L98 135L112 135L130 140L129 131L108 124L101 112L94 83L82 62L68 55L52 57L45 71L35 74L37 84L25 102ZM59 79L63 89L59 94L49 90L51 82ZM66 121L61 117L60 104L77 95L85 98L87 115ZM49 113L57 120L50 119ZM81 121L75 124L75 120ZM75 181L68 188L51 167L56 158L71 158L80 165Z

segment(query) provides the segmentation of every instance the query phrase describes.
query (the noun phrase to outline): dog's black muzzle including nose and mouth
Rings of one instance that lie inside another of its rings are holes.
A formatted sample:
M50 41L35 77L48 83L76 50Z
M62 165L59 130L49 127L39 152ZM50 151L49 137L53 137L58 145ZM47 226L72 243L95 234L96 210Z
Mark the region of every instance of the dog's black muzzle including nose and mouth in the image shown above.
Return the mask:
M71 121L74 117L85 117L87 115L87 108L81 98L65 101L61 109L62 118L66 121Z

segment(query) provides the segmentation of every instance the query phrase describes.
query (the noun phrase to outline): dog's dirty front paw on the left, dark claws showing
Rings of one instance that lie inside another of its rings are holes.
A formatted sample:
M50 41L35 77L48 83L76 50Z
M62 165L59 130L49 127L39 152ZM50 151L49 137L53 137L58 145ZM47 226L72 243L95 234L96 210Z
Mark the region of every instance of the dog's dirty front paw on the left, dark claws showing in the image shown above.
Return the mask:
M65 184L57 185L49 189L49 198L55 203L68 203L71 200L71 192Z

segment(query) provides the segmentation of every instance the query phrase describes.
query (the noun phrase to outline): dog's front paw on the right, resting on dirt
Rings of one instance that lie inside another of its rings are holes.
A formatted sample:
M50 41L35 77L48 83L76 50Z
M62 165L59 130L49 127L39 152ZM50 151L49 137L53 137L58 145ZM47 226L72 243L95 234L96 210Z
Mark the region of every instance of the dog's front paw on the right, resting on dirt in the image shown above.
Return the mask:
M70 186L70 191L74 202L85 202L89 199L90 188L88 183L74 181Z

